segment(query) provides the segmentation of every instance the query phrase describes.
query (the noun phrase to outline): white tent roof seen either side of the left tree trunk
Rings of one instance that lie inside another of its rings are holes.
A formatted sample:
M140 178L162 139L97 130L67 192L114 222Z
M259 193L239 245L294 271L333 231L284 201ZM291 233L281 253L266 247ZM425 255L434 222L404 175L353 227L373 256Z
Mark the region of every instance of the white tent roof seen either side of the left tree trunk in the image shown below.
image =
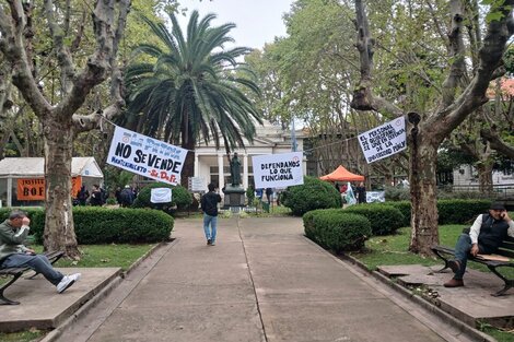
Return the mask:
M43 157L8 157L0 161L0 178L43 177L45 158ZM73 157L71 176L103 178L104 174L92 156Z

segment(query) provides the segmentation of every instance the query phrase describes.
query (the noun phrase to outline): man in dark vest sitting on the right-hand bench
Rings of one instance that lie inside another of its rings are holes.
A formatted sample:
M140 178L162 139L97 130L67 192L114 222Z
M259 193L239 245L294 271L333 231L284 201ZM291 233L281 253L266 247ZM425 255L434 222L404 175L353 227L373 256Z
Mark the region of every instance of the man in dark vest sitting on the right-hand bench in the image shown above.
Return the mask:
M476 257L478 253L494 253L506 236L514 237L514 221L502 203L493 203L489 214L478 215L469 234L460 234L455 246L455 259L448 261L448 266L455 275L444 284L445 287L464 286L464 272L468 255Z

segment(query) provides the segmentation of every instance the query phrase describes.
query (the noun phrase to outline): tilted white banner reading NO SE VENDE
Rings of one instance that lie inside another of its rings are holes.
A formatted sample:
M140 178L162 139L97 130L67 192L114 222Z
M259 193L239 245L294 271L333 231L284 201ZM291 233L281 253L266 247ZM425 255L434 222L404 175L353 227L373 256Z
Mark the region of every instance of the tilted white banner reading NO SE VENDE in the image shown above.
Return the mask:
M155 180L177 185L187 150L116 127L107 164Z

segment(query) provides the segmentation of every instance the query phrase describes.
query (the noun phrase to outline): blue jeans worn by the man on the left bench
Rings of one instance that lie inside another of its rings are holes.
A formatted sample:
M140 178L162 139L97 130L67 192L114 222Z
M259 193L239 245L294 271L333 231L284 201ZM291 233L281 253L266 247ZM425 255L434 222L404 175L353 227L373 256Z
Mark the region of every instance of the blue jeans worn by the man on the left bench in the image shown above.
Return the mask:
M63 275L59 271L56 271L51 266L50 261L44 255L25 255L25 253L14 253L7 257L2 267L4 268L23 268L30 267L37 273L42 273L47 281L54 285L59 284Z

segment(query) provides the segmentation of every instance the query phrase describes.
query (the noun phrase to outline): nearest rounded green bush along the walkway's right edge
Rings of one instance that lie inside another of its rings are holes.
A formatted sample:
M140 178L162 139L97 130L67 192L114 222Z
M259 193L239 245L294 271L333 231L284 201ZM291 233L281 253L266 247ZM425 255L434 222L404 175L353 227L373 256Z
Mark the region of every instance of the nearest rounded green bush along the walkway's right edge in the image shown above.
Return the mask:
M372 233L366 217L341 209L309 211L303 222L308 238L336 253L362 249Z

